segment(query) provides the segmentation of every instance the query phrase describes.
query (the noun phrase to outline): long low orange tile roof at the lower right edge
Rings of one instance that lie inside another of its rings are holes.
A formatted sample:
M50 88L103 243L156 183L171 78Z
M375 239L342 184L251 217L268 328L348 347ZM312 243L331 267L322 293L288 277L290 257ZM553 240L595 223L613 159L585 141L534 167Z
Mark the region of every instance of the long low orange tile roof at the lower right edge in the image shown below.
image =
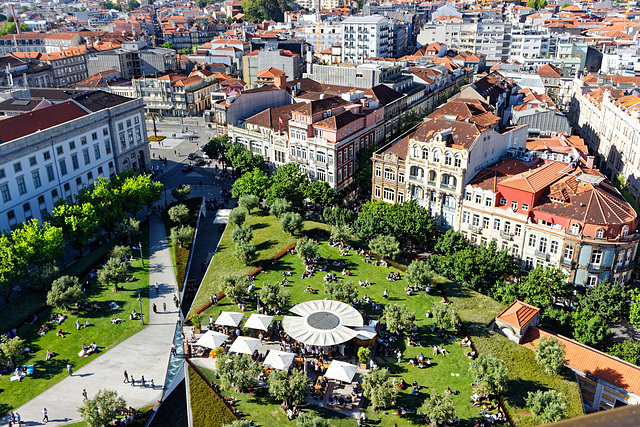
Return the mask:
M555 336L564 346L565 365L640 395L640 367L537 327L530 327L527 330L523 345L534 349L543 336L547 338Z

